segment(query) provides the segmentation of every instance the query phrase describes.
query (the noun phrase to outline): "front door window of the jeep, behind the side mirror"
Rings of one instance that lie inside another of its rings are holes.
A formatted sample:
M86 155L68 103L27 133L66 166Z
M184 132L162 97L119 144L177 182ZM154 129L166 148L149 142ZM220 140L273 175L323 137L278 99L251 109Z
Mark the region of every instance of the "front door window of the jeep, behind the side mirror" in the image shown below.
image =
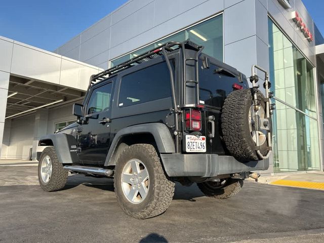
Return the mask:
M112 83L100 86L92 91L87 105L87 114L109 110Z

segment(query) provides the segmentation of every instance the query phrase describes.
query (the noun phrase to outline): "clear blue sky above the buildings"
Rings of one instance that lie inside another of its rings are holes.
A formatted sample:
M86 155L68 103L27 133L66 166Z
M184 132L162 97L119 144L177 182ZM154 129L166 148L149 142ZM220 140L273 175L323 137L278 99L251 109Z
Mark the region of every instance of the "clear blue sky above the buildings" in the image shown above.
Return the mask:
M54 51L126 2L127 0L1 1L0 35ZM303 2L324 35L324 0Z

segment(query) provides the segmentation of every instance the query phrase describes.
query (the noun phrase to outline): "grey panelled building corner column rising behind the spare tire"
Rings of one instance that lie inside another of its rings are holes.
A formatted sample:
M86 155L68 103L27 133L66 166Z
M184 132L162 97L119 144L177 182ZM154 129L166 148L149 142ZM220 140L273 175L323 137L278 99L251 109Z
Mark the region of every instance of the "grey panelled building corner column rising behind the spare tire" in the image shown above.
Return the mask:
M244 18L238 19L238 16ZM251 76L254 64L269 70L268 11L265 0L225 1L224 60L247 77ZM264 73L258 71L257 74L260 90L264 92ZM272 155L269 164L269 169L260 173L273 173Z

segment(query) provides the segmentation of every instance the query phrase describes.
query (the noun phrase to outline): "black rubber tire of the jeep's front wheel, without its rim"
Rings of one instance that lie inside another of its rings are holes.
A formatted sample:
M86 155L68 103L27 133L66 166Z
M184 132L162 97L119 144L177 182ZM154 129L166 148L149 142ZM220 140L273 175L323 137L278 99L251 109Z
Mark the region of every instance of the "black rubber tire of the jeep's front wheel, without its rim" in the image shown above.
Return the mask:
M41 170L42 160L45 155L51 157L52 175L48 184L43 184L39 170ZM41 188L45 191L58 191L63 189L68 177L68 171L63 169L62 163L59 162L55 148L53 146L46 147L39 159L38 163L38 181Z

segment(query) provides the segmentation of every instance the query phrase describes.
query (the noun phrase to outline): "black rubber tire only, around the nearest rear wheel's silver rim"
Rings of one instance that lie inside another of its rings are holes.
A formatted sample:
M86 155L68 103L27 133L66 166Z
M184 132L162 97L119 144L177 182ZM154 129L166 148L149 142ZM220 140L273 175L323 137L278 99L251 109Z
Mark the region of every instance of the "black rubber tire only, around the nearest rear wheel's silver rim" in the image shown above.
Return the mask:
M121 209L129 216L132 216L137 219L147 219L158 216L164 213L170 206L175 189L175 183L171 181L168 176L165 174L163 167L160 162L160 158L156 153L156 150L151 144L134 144L130 147L126 148L119 159L123 159L123 157L128 153L134 153L135 155L141 152L146 152L151 157L151 162L153 163L154 168L154 198L150 203L145 207L144 210L140 212L131 212L124 205L124 202L121 200L121 196L123 196L123 192L118 193L115 190L115 195L117 201L121 207ZM117 162L118 163L118 162ZM116 177L114 177L114 185L116 185Z

